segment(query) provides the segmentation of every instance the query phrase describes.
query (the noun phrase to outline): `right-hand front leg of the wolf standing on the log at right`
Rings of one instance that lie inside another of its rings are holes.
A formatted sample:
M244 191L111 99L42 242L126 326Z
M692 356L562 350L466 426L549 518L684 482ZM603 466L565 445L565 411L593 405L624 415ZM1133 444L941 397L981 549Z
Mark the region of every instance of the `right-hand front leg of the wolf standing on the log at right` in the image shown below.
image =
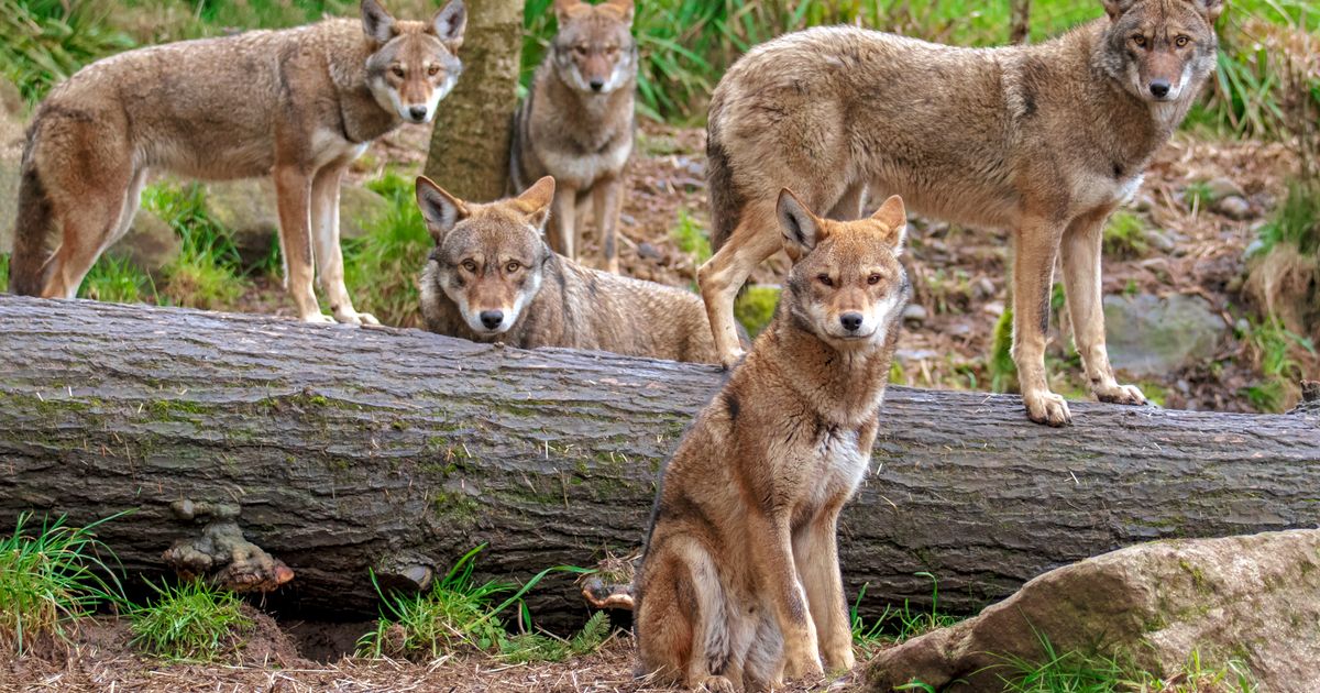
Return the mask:
M1109 210L1073 219L1064 232L1063 260L1073 342L1086 370L1086 383L1100 401L1146 404L1137 385L1121 385L1105 348L1105 310L1101 304L1101 240Z

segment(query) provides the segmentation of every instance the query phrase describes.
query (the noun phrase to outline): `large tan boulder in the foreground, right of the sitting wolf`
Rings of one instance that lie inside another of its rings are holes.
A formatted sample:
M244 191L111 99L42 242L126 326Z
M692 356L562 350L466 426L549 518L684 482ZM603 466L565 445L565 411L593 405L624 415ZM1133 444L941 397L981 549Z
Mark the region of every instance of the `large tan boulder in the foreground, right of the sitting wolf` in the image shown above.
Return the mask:
M1195 652L1205 671L1239 661L1262 692L1320 690L1320 531L1158 541L1051 570L979 616L882 652L865 690L913 680L1002 690L1006 657L1045 659L1040 638L1166 680Z

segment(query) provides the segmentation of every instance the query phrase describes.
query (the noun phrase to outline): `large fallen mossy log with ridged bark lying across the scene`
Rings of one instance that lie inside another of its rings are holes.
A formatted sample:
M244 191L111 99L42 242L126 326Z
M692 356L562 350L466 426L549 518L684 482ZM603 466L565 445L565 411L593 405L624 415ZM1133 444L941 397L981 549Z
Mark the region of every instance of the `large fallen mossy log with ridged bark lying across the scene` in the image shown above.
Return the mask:
M284 612L371 615L368 569L424 583L487 543L479 572L517 581L634 550L661 462L721 380L417 330L0 297L0 527L133 508L100 529L132 574L162 572L168 549L206 573L219 552L214 570L251 561L239 586L284 582L267 595ZM928 602L920 572L942 609L970 611L1139 541L1320 525L1313 412L1073 413L1051 429L1015 396L892 388L842 519L863 612ZM583 612L568 577L529 606L552 626Z

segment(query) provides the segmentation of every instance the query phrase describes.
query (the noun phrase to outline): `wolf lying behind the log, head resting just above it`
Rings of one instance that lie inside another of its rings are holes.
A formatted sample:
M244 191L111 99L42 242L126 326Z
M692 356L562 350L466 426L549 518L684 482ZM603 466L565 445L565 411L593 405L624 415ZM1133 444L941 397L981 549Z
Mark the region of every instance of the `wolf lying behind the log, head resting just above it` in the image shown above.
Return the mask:
M426 329L521 348L715 363L696 294L589 269L546 246L553 198L549 177L492 205L466 203L417 180L417 202L436 239L421 279Z

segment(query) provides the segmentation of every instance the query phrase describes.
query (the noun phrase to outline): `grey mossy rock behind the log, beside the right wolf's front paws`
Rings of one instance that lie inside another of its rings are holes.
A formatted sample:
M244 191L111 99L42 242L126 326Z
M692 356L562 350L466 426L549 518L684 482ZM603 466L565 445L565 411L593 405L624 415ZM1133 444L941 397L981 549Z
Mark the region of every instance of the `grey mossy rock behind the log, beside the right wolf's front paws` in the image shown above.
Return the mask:
M1106 296L1104 305L1109 358L1135 376L1162 376L1201 363L1228 331L1224 318L1199 296Z

